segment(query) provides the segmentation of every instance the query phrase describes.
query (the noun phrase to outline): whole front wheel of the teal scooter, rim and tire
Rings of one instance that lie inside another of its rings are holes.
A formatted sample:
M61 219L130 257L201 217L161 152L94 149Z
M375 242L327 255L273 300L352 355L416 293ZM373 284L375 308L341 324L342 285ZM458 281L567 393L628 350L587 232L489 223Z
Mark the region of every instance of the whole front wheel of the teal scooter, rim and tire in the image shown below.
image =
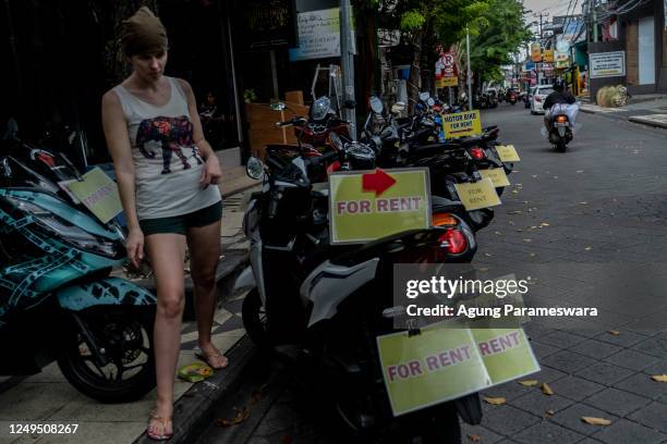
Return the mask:
M84 341L82 323L73 322L58 357L58 367L81 393L102 403L140 399L155 385L154 316L145 309L102 307L76 313L95 338L101 365Z

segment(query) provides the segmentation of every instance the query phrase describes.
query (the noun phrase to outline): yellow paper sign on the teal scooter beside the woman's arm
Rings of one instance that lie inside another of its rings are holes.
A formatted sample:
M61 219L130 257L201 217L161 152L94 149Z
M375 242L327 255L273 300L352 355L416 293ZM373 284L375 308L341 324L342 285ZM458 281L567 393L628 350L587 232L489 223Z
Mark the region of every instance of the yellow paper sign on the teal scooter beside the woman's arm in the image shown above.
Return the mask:
M66 186L102 223L123 211L118 185L99 168L84 174L83 182L71 181Z

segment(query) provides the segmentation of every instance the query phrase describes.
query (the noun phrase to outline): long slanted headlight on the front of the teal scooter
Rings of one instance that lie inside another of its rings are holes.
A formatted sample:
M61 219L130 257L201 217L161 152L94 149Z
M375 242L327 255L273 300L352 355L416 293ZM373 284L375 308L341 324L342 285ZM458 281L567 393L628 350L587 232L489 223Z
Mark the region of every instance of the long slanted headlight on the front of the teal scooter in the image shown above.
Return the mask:
M108 258L120 259L122 256L117 243L90 234L38 205L10 196L5 198L20 210L33 215L35 222L53 237L58 237L83 250Z

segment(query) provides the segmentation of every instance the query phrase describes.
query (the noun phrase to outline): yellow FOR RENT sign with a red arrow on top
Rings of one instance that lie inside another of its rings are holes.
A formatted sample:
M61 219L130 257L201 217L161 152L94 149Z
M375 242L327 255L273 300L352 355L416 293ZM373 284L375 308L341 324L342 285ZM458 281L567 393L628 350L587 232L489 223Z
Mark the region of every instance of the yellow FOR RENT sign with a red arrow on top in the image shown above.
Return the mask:
M428 169L329 175L331 244L362 244L430 226Z

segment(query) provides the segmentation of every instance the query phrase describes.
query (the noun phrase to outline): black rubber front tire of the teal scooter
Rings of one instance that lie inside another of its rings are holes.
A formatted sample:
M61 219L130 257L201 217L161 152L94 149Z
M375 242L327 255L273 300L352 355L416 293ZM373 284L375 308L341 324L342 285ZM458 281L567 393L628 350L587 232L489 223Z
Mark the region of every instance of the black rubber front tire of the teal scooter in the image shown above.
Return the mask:
M122 316L125 321L136 321L143 330L142 336L146 335L149 343L147 350L145 350L147 355L145 365L129 380L110 381L96 374L86 363L86 359L82 359L81 342L75 329L70 329L68 338L58 354L58 367L70 384L84 395L105 404L130 403L141 399L156 386L153 343L154 316L145 310L137 312L123 310ZM108 325L105 324L101 330L107 328Z

